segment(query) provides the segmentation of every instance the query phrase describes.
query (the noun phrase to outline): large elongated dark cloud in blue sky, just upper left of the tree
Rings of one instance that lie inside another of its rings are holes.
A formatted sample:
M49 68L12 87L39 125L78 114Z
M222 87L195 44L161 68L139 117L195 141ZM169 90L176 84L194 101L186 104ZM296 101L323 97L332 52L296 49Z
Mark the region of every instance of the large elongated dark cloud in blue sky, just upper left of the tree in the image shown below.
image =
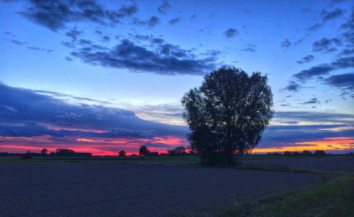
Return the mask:
M192 51L171 44L159 44L156 48L151 51L122 40L110 49L88 44L71 54L88 64L164 75L202 75L216 67L215 56L198 59Z

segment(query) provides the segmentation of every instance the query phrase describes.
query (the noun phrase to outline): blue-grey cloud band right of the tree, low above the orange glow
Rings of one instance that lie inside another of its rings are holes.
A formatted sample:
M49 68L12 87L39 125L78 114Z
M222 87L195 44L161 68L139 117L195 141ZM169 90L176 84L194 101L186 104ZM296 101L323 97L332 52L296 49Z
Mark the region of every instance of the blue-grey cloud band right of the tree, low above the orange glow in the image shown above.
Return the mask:
M265 129L259 148L294 146L296 142L316 141L329 137L353 136L353 129L334 131L340 127L353 127L354 115L324 112L275 112L273 122L292 125L273 125ZM312 122L312 125L300 125ZM331 123L331 124L324 124ZM295 125L294 125L295 124Z

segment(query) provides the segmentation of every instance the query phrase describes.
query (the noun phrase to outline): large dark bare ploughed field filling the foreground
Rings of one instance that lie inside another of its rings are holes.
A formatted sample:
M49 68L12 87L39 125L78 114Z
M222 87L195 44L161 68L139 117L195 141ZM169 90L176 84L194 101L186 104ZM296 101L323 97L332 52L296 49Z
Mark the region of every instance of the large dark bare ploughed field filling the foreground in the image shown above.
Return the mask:
M319 175L115 163L0 164L0 216L169 216L225 206Z

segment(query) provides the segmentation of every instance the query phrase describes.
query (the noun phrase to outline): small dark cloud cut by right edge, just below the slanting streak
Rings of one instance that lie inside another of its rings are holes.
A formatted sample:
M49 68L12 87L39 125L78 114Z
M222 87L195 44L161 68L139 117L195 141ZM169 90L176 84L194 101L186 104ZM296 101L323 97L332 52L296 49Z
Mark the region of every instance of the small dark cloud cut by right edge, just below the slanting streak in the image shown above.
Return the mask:
M344 90L354 90L354 73L329 76L324 83Z

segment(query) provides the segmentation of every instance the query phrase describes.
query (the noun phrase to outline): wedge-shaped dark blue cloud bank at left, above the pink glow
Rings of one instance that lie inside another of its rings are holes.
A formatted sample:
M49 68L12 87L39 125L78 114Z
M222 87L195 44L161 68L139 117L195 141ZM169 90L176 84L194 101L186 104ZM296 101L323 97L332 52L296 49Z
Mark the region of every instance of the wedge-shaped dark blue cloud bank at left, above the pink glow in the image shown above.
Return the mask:
M0 125L0 136L142 138L167 135L184 137L188 132L187 127L149 122L128 110L69 104L50 95L4 84L0 84ZM55 130L55 127L63 126L67 129Z

